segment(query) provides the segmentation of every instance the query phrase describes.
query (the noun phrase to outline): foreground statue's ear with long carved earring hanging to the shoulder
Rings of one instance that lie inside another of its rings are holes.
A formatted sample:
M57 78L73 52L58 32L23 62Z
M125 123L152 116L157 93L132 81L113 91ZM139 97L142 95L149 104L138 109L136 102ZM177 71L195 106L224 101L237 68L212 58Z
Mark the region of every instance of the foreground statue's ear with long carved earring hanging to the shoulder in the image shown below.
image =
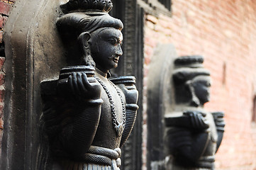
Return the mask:
M91 34L88 32L81 33L78 37L79 42L81 42L83 52L81 64L95 67L95 62L91 57L91 48L89 45L90 38Z

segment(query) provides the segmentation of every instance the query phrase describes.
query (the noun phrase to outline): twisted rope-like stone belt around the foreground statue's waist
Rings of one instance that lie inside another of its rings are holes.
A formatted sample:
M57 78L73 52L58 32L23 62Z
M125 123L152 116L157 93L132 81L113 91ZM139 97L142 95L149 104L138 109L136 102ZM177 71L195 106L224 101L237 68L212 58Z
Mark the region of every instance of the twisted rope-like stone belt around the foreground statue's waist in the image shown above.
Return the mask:
M108 149L105 147L89 147L84 155L84 161L92 164L104 164L108 166L121 166L121 149Z

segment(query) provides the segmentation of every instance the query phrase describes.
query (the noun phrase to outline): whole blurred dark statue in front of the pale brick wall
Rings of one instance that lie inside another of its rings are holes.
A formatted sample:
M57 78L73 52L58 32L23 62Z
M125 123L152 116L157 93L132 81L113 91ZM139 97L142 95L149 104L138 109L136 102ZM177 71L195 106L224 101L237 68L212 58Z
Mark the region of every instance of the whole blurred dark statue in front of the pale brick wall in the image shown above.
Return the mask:
M210 73L201 56L174 60L175 108L165 114L167 169L214 169L214 156L224 132L222 112L209 113Z

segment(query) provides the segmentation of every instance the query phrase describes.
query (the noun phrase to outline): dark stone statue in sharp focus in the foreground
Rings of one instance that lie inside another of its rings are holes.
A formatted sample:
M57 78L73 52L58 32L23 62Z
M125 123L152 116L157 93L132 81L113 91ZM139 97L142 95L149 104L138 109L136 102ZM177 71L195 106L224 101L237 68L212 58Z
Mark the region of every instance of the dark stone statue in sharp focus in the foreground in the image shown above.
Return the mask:
M56 25L68 66L59 79L41 85L52 169L121 166L120 147L135 123L138 91L134 77L108 72L123 54L123 23L108 15L112 6L111 0L69 0L60 6Z

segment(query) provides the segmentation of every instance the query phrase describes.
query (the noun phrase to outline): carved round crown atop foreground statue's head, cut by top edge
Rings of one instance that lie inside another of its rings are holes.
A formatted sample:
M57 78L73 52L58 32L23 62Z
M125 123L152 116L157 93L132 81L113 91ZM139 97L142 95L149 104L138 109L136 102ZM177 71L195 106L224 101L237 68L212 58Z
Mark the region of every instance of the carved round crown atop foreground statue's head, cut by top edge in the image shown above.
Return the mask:
M102 11L108 13L113 4L111 0L69 0L60 6L63 13L73 11Z

